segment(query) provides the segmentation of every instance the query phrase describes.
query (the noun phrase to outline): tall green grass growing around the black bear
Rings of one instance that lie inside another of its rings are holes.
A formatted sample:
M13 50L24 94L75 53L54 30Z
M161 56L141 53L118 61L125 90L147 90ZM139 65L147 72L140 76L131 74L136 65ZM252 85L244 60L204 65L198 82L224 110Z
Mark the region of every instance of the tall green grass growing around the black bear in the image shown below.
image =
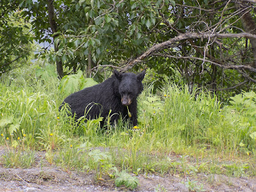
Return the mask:
M170 166L174 167L166 163L165 155L170 153L195 157L255 157L256 96L253 93L231 98L232 102L225 105L210 92L189 93L185 85L166 84L156 94L145 85L138 98L138 126L129 127L120 120L116 125L108 124L102 131L100 118L76 122L72 116L64 115L67 111L58 111L64 93L60 92L60 81L55 76L38 77L35 72L30 73L32 75L16 79L1 79L2 145L6 142L12 145L13 141L23 138L28 147L47 150L49 161L53 162L54 150L65 148L74 152L74 148L68 149L70 145L81 148L84 143L90 143L90 147L110 148L112 163L134 172L140 169L165 172ZM74 166L73 161L70 164L70 157L63 153L61 156L58 162L65 164L63 161L68 159L68 166Z

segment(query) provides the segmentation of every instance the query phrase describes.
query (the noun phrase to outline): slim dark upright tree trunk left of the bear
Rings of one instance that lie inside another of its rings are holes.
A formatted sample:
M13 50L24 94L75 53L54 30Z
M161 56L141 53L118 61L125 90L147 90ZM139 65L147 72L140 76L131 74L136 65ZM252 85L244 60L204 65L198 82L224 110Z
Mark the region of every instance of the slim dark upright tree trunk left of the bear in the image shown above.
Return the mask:
M52 34L57 32L57 24L55 21L55 14L54 14L54 7L53 7L53 0L48 0L47 1L47 9L48 9L48 19L49 23L51 26ZM53 41L58 35L53 36ZM54 44L54 51L58 51L58 45ZM57 73L58 77L61 79L63 77L63 66L62 66L62 61L56 60L56 67L57 67Z

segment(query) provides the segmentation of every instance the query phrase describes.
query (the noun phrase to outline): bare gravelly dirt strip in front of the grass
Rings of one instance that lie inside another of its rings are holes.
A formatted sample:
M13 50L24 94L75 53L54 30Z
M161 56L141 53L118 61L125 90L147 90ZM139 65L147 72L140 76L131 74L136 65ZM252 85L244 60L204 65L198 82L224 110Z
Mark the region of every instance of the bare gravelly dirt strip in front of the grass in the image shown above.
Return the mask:
M0 157L5 150L0 149ZM44 157L44 152L36 156ZM46 162L46 161L45 161ZM179 175L138 175L140 184L134 191L189 191L185 182L187 178ZM189 176L197 181L196 185L204 186L204 191L256 191L256 178L227 177L225 175ZM116 188L114 180L108 176L105 180L95 182L94 172L65 171L58 166L37 163L32 168L4 168L0 164L0 191L129 191Z

